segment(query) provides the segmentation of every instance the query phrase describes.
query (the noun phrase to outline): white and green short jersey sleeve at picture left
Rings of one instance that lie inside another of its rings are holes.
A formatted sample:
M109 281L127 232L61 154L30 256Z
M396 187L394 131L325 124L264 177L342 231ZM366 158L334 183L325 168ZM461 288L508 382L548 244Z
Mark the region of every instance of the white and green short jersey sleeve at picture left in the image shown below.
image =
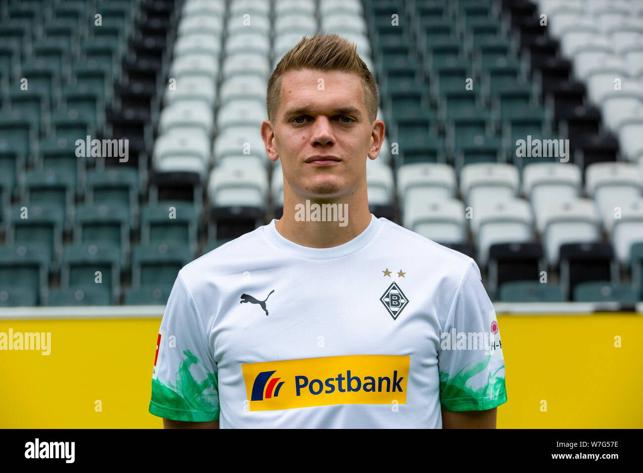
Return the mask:
M156 342L150 413L188 422L219 419L217 365L192 295L177 275Z

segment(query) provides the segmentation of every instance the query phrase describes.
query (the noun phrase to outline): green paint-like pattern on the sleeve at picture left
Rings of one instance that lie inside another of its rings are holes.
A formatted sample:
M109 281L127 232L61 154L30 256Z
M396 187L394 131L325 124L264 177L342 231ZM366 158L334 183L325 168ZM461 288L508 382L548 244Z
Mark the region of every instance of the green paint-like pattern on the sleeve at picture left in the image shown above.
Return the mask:
M152 400L149 411L155 416L187 422L210 422L219 419L219 385L217 376L208 373L199 358L183 351L185 359L176 373L176 386L168 386L157 379L152 380ZM206 373L202 382L197 382L190 366L201 368Z

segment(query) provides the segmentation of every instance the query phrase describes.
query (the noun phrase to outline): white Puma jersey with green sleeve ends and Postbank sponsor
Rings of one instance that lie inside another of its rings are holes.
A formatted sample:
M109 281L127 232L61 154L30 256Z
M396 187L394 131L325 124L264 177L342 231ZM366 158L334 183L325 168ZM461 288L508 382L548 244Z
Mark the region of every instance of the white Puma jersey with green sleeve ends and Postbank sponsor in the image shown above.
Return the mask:
M150 413L221 428L440 428L440 409L507 401L473 259L375 216L332 248L297 245L275 221L179 272Z

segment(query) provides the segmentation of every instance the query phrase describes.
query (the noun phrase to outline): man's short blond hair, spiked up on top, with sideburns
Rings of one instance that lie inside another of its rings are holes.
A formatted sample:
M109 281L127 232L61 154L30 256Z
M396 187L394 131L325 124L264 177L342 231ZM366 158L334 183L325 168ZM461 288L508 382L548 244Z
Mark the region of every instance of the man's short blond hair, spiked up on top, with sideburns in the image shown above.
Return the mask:
M317 33L303 37L293 49L285 53L268 80L266 107L268 120L274 123L281 100L282 77L286 71L301 69L345 71L361 78L368 122L377 116L377 84L367 65L359 57L357 46L337 34Z

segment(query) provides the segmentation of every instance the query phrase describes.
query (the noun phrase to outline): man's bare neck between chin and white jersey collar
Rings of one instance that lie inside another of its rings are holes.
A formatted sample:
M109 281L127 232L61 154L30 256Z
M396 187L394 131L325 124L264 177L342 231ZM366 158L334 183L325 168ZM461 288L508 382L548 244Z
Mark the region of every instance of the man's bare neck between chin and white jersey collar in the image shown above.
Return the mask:
M284 215L275 222L277 232L285 239L310 248L332 248L343 245L361 234L371 221L367 198L347 203L345 199L293 198L284 195ZM314 220L315 204L318 205L318 220ZM331 204L334 209L328 213L324 207ZM341 208L340 208L341 207ZM339 216L334 221L321 221L323 216Z

